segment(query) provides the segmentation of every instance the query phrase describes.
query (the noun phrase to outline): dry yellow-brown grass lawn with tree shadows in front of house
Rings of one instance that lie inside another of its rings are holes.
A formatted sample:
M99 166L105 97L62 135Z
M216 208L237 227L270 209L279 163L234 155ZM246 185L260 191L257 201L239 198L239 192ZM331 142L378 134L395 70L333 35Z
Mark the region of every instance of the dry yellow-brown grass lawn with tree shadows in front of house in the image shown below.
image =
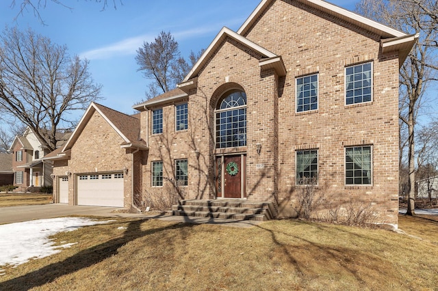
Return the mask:
M438 222L400 229L298 220L250 228L116 219L54 236L77 243L16 268L0 290L437 290Z

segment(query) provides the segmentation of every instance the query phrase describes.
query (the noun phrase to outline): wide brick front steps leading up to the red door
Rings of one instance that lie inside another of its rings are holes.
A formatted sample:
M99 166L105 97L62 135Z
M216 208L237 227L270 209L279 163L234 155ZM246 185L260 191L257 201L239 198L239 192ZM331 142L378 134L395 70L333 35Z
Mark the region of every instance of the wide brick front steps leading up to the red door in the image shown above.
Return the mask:
M272 202L246 199L182 200L168 212L175 216L267 221L276 218Z

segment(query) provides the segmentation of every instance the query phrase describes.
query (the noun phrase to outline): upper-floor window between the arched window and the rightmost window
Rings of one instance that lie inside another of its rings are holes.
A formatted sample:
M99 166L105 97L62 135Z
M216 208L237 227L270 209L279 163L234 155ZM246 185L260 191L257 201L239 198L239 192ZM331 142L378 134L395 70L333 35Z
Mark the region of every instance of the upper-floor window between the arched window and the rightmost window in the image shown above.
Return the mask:
M296 79L296 112L318 109L318 74Z

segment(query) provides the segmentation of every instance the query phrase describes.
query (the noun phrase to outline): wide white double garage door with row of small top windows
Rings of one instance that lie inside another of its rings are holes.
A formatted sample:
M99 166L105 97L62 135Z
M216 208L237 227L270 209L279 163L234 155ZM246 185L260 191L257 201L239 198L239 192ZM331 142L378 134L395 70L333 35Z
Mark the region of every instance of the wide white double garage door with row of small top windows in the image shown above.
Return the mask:
M123 173L77 176L77 205L123 207Z

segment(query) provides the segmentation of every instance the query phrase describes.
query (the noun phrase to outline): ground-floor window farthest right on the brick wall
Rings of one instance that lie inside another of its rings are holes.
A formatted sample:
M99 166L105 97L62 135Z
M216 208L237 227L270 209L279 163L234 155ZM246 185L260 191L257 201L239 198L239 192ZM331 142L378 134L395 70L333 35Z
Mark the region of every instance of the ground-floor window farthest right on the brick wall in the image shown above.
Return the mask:
M345 184L371 184L371 146L345 149Z

